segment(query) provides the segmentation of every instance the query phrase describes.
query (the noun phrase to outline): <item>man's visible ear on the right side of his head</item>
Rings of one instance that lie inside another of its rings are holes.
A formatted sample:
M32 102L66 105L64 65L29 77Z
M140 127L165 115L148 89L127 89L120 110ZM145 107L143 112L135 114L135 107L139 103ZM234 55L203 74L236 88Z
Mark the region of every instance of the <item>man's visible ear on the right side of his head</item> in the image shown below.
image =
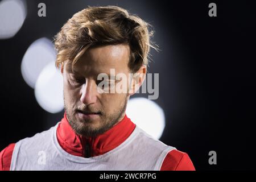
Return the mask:
M139 68L139 70L136 73L134 73L133 78L129 85L129 96L132 96L139 90L139 88L143 84L143 81L146 78L146 73L147 73L146 65L142 65L142 67Z

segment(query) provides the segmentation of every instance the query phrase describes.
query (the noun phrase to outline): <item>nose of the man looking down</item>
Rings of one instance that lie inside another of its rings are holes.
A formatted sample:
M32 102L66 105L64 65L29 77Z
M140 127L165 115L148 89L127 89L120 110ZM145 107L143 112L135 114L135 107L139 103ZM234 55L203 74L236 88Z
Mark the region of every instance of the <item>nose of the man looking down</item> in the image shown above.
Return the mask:
M90 105L96 102L97 100L97 85L94 80L86 79L84 85L81 88L81 97L80 101L85 105Z

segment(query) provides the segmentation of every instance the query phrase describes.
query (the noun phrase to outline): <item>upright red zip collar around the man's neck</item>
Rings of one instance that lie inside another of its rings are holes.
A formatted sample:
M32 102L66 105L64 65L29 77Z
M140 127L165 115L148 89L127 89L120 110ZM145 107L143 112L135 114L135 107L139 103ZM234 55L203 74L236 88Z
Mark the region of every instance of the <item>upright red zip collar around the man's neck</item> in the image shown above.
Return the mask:
M124 142L133 130L135 124L126 115L112 129L97 137L81 137L69 125L66 113L57 127L57 140L60 146L69 154L83 157L105 154Z

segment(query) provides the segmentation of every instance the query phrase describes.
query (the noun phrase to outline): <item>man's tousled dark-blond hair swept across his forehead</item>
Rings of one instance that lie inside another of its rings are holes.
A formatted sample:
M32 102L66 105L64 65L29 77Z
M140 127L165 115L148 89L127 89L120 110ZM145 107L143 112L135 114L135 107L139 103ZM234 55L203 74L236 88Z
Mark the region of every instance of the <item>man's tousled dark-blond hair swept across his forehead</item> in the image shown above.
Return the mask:
M129 68L137 72L148 64L152 26L137 15L131 15L118 6L88 7L74 14L55 36L56 67L66 60L76 63L88 48L111 44L128 44Z

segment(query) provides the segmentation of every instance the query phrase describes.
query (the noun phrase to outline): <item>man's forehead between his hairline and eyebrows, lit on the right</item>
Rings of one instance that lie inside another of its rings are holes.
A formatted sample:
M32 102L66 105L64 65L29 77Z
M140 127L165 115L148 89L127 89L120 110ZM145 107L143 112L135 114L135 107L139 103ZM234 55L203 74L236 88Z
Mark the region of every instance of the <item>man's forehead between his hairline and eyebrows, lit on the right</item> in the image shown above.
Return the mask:
M73 65L73 72L80 75L110 73L110 69L115 72L129 71L128 63L130 57L130 47L126 44L108 45L93 47L80 57ZM72 63L67 64L68 72L72 72Z

